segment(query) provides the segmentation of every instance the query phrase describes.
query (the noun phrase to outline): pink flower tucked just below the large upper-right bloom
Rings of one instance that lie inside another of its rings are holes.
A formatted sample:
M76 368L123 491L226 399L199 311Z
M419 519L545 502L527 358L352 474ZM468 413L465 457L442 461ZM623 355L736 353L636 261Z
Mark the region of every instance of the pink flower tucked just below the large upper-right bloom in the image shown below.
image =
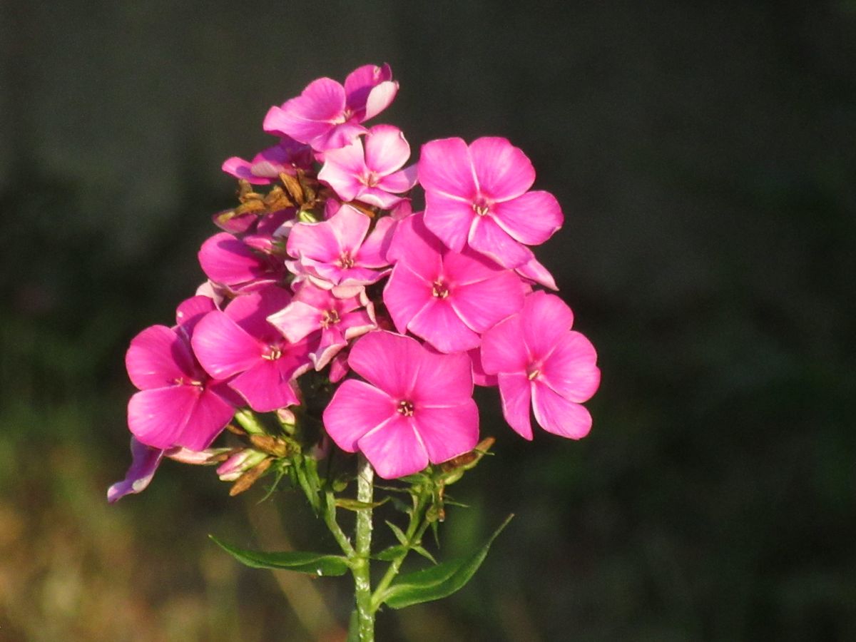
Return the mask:
M383 302L395 328L440 352L478 347L484 331L523 306L523 283L513 270L444 247L421 214L398 224L387 257L395 267Z

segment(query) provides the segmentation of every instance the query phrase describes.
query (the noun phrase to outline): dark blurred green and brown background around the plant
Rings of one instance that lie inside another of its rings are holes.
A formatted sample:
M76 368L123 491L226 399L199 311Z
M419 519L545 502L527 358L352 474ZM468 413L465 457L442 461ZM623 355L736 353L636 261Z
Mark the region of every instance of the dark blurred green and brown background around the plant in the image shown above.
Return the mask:
M206 538L317 548L296 495L174 462L104 492L124 350L200 282L220 163L366 62L414 151L530 155L567 217L538 256L603 369L580 443L524 443L483 395L497 456L455 487L443 554L516 519L380 639L856 639L852 0L2 0L0 639L341 639L347 580Z

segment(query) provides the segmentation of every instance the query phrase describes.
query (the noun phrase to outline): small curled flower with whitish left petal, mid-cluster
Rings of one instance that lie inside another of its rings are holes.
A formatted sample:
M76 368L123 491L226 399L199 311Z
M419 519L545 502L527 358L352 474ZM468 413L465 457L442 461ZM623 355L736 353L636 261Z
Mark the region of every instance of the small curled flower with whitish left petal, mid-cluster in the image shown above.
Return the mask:
M360 287L354 296L340 299L311 282L304 282L291 303L267 320L289 342L296 343L308 336L318 338L309 353L315 370L330 363L348 341L377 328L374 305L366 296L366 288Z

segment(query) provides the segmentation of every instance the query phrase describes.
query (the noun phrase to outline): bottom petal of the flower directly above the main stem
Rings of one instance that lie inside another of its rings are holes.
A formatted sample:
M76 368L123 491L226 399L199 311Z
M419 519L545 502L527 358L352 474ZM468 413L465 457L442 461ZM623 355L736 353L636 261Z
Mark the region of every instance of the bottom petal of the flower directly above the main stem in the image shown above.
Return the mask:
M428 451L413 427L413 418L400 413L369 431L357 445L383 479L419 473L428 466Z

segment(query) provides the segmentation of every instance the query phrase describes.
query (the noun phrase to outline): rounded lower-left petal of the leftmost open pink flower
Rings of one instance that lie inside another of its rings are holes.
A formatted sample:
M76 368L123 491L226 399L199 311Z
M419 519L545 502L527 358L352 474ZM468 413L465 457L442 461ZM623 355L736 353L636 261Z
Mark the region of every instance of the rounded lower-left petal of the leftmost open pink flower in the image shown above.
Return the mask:
M175 446L190 419L202 390L174 385L135 393L128 401L128 429L147 446Z

